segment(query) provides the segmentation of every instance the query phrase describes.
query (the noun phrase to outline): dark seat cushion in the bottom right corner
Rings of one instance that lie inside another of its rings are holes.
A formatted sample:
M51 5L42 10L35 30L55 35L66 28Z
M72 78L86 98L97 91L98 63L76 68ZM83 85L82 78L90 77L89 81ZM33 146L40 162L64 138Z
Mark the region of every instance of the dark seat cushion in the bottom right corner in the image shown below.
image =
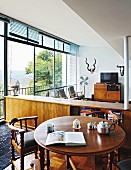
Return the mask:
M120 170L131 170L131 159L126 159L118 162L117 167Z

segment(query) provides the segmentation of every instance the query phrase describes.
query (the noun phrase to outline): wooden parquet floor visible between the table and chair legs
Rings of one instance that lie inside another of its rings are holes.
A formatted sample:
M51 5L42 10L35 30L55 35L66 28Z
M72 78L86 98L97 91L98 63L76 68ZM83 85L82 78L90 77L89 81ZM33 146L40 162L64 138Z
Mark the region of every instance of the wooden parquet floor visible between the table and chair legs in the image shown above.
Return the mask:
M34 154L25 157L25 170L31 170L30 163L34 159ZM77 157L73 156L72 161L76 167L75 170L92 170L90 167L90 157ZM109 170L106 168L106 160L97 161L98 170ZM19 160L16 162L19 169ZM46 169L46 168L45 168ZM4 170L11 170L11 166L5 168ZM64 155L51 153L51 168L50 170L66 170L66 160ZM117 170L115 167L113 170Z

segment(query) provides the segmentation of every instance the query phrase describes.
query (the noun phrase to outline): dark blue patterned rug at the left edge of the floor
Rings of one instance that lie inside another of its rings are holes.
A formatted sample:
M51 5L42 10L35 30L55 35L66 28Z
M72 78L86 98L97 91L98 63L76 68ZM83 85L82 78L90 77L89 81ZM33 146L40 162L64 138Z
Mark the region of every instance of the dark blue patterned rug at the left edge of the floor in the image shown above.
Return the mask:
M10 164L10 129L6 124L0 124L0 170Z

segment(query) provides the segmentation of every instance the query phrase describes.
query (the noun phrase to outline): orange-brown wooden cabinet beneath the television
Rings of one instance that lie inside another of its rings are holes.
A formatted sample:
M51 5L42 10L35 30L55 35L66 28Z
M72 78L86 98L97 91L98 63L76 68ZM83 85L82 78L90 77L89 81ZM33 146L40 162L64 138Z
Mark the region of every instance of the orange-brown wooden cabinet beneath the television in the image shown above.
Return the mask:
M94 100L120 102L121 84L94 84Z

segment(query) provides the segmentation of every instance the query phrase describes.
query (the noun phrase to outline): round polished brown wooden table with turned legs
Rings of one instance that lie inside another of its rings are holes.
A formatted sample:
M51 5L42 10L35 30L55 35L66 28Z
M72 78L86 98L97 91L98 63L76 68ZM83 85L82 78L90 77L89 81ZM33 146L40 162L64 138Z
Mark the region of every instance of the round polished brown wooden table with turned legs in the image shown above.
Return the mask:
M81 129L79 131L83 132L86 146L65 146L65 145L50 145L45 146L47 138L47 124L54 124L55 131L73 131L72 125L75 119L80 120ZM109 135L98 134L97 130L88 130L87 123L96 122L96 125L105 119L89 116L63 116L50 119L48 121L40 124L35 130L35 140L40 146L40 160L41 166L42 161L44 160L43 150L52 151L55 153L67 155L67 156L89 156L93 157L93 169L96 169L95 166L95 156L103 155L113 152L115 149L121 147L125 141L125 132L124 130L116 124L115 130L111 131ZM107 121L107 120L106 120ZM109 124L112 124L111 121L108 121ZM44 167L42 167L43 169Z

